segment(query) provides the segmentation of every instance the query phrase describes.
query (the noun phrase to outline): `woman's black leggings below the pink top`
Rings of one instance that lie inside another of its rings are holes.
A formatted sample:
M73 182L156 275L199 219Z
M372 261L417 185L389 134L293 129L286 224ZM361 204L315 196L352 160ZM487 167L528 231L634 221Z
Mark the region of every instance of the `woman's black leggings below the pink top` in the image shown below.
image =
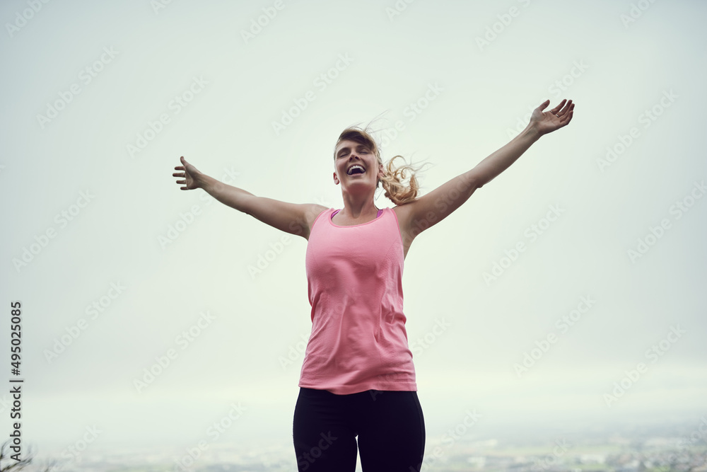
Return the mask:
M293 441L299 472L419 472L425 420L414 391L336 395L300 387Z

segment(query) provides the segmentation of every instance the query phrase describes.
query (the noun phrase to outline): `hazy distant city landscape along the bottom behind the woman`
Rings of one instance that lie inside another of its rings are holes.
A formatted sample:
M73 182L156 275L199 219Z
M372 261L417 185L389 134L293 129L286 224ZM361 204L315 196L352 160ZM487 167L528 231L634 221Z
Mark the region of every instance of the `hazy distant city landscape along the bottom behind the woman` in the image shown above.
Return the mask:
M707 416L670 427L528 437L428 434L427 472L707 472ZM211 444L208 449L86 451L50 464L37 451L31 471L78 472L296 472L291 444ZM361 465L358 464L358 470ZM335 472L335 471L332 471Z

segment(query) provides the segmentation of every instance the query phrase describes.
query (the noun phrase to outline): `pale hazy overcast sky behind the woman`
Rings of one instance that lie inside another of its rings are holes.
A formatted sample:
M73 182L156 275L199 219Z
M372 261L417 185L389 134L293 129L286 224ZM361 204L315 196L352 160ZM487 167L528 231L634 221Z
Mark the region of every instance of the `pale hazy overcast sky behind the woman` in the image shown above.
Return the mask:
M255 195L340 208L332 150L345 127L385 113L384 160L431 163L428 192L546 98L575 101L571 124L405 261L429 440L467 410L480 437L706 413L704 2L31 3L0 6L1 376L15 378L9 306L21 301L25 445L61 451L93 426L96 450L291 439L311 326L306 241L179 190L180 156ZM617 158L602 163L607 147ZM636 257L639 238L650 246ZM506 268L491 280L494 263ZM582 297L595 302L563 331ZM233 405L240 418L213 439Z

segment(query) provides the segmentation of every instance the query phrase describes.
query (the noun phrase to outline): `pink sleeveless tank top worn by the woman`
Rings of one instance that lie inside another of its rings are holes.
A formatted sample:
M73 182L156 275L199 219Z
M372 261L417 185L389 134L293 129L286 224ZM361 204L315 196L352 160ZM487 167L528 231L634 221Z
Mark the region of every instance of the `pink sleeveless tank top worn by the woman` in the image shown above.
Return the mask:
M403 314L403 247L397 215L354 226L320 213L307 243L312 334L300 387L339 395L417 391Z

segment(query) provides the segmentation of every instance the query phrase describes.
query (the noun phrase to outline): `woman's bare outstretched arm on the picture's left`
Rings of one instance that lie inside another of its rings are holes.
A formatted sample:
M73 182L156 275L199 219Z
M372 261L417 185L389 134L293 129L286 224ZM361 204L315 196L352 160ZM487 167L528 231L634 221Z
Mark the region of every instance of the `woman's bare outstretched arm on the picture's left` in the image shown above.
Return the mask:
M315 203L297 204L257 197L250 192L219 182L215 178L199 172L183 156L180 160L182 166L175 166L175 170L182 172L173 173L173 176L184 178L184 180L177 180L177 183L183 185L182 190L203 188L223 205L250 214L263 223L286 233L308 239L314 220L327 209L327 207Z

